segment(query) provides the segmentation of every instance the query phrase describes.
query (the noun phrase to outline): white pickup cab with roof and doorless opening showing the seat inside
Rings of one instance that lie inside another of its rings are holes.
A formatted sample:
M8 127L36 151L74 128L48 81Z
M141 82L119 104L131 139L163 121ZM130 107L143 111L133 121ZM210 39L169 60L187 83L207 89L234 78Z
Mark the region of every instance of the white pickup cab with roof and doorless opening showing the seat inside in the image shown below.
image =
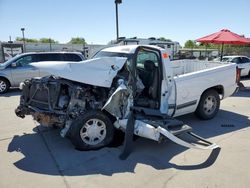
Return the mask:
M162 114L171 114L168 109L168 99L174 87L173 74L169 55L157 46L117 46L104 49L93 58L100 57L127 57L129 68L134 81L131 86L134 91L134 105L158 110Z

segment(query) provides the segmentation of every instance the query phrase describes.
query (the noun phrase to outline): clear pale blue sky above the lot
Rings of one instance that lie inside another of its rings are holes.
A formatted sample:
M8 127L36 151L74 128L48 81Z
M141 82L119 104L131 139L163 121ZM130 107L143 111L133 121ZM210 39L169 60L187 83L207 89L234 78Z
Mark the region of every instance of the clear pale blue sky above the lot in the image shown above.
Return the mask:
M0 0L0 41L51 37L106 44L116 38L114 0ZM250 0L123 0L120 36L165 37L181 44L227 28L250 37Z

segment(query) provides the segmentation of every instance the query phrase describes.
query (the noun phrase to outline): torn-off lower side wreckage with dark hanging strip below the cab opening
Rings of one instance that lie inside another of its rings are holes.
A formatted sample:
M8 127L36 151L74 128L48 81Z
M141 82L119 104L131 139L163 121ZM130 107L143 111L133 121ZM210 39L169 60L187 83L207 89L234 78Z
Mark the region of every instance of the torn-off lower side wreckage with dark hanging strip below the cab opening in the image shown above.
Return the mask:
M138 111L137 111L138 112ZM169 116L141 115L131 111L127 120L117 122L125 129L125 141L121 159L126 159L133 148L133 134L160 142L167 138L187 148L213 150L219 148L215 143L194 134L192 128L182 121Z

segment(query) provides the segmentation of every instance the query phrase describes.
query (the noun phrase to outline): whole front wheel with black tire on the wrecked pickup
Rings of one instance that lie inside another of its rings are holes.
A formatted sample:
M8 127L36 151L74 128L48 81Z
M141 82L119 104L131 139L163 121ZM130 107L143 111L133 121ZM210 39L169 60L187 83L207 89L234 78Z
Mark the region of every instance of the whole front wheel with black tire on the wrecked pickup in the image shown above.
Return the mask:
M69 137L76 149L94 150L108 146L113 141L114 132L114 126L107 115L101 111L91 111L72 123Z

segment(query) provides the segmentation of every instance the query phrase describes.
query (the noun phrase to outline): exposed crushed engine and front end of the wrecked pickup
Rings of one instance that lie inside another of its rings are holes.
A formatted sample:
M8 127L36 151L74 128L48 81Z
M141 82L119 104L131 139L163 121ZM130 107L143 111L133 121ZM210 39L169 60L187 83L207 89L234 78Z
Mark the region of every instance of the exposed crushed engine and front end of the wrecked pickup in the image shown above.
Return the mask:
M107 101L109 90L57 77L33 78L22 85L16 115L32 115L44 126L63 128L89 110L98 110Z

